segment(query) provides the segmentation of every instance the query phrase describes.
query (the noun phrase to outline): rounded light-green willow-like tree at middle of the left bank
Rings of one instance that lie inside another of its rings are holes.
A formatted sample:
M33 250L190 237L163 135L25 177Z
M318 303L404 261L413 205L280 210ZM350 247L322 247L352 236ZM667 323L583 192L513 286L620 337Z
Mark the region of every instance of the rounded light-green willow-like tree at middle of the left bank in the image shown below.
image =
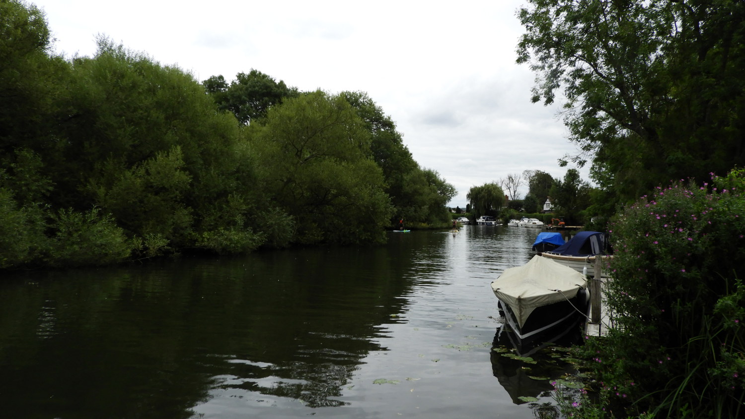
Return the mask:
M272 205L296 221L296 243L384 240L390 201L370 159L370 133L340 96L289 98L250 129L259 185Z

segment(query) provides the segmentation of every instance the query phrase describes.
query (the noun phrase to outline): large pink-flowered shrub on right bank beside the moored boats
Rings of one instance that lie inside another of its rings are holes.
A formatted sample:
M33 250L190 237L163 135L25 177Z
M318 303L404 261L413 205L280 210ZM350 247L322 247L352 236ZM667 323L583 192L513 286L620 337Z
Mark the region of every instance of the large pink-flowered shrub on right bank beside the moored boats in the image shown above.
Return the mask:
M745 170L712 173L658 188L612 223L604 297L617 327L583 349L610 394L603 412L745 415L744 191Z

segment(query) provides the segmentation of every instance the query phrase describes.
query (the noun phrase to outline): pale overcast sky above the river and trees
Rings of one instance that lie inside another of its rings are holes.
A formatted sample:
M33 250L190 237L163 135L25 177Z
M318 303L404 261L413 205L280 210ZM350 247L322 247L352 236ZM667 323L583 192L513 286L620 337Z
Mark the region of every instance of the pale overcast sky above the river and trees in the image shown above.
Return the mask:
M563 179L557 159L576 153L515 63L524 0L29 1L68 57L91 56L100 33L200 81L254 68L301 91L367 92L413 158L457 188L453 206L510 173Z

